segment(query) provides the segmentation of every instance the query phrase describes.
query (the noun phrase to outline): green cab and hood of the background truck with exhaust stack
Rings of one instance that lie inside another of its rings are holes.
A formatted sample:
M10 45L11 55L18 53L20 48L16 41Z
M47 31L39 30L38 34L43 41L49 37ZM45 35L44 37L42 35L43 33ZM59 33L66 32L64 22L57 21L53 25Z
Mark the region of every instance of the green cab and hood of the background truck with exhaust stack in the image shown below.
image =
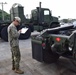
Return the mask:
M60 26L58 17L52 16L48 8L41 8L41 2L39 7L31 11L30 22L33 24L34 30L37 31Z

